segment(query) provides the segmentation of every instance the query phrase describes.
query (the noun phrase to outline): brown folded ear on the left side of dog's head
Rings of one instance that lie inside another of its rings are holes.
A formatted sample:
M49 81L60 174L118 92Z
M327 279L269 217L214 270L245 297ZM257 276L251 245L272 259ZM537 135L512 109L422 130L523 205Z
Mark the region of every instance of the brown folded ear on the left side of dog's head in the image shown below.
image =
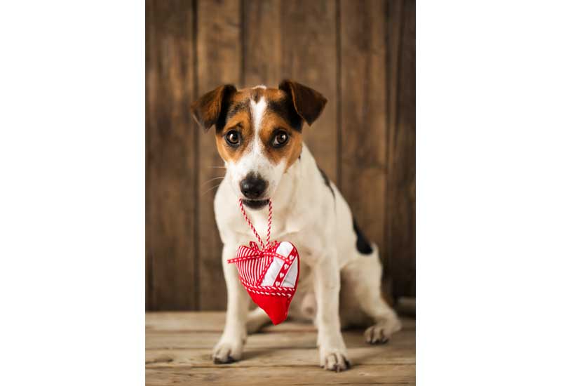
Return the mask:
M236 87L224 84L191 103L191 112L197 124L206 130L225 118L227 100L236 92Z

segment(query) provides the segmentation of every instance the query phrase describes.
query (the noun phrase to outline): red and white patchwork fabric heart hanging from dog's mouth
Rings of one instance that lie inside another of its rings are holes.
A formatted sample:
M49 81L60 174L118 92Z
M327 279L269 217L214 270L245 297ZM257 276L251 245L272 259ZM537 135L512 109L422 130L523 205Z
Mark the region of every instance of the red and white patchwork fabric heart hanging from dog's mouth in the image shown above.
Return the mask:
M292 243L275 241L259 249L255 242L240 246L236 264L241 284L256 305L261 307L273 324L283 322L294 297L300 274L300 256Z

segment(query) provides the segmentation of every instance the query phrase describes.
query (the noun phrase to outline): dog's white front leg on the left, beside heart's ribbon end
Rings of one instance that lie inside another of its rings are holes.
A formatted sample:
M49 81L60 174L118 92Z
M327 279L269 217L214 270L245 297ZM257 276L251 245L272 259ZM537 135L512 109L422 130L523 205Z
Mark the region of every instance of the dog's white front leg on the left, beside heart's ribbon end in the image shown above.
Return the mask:
M236 265L227 262L228 259L236 256L236 248L236 246L224 245L222 249L222 269L228 290L228 308L224 333L212 354L215 364L227 364L241 359L247 335L245 321L248 317L250 298L238 279Z

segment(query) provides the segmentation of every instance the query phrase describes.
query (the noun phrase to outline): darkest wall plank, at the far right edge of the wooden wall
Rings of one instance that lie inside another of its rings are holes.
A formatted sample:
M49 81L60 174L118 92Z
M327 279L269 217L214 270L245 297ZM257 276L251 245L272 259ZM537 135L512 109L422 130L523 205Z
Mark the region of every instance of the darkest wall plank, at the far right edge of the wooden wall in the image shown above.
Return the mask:
M391 2L386 245L394 295L415 295L415 2Z

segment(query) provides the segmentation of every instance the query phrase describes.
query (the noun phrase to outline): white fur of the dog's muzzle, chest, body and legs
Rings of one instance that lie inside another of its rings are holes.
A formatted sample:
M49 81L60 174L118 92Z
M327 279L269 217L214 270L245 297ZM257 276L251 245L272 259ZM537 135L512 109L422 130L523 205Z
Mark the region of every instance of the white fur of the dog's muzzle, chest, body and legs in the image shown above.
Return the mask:
M262 112L259 103L252 106L255 117ZM228 166L224 181L233 183L223 181L215 197L228 288L226 326L215 347L215 360L241 359L247 331L257 331L268 320L266 314L258 310L252 312L248 320L250 298L238 281L236 267L226 263L228 258L234 257L239 245L254 239L238 208L241 195L237 185L243 173L259 171L269 181L268 197L273 202L271 237L291 241L300 254L300 279L290 315L315 319L320 364L330 370L344 370L346 347L339 316L344 324L365 317L376 319L377 324L366 331L368 342L384 340L400 328L395 312L381 298L381 265L377 251L367 257L358 253L349 206L333 184L332 196L306 145L300 159L285 173L284 166L280 169L268 163L261 151L252 149L237 165ZM248 210L255 228L262 234L267 214L266 206L258 211ZM339 290L343 299L340 308Z

